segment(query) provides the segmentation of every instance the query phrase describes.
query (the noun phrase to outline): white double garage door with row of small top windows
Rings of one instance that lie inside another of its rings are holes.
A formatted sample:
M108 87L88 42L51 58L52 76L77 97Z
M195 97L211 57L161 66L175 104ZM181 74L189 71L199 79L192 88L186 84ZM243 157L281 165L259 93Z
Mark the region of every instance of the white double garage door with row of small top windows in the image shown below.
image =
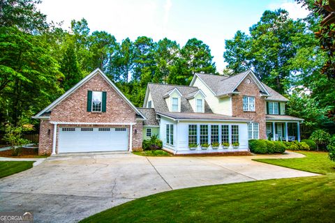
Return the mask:
M59 128L59 153L128 151L128 128Z

